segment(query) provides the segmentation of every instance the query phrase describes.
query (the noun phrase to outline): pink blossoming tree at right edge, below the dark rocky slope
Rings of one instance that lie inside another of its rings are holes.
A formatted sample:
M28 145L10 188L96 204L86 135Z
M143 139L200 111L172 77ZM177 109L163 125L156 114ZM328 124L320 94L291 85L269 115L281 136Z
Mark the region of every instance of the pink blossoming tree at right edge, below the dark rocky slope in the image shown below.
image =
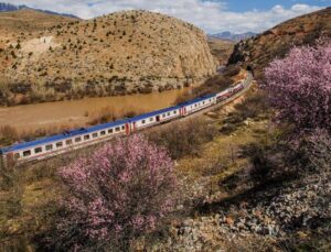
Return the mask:
M331 42L293 47L265 70L265 88L278 119L297 133L324 129L331 133Z

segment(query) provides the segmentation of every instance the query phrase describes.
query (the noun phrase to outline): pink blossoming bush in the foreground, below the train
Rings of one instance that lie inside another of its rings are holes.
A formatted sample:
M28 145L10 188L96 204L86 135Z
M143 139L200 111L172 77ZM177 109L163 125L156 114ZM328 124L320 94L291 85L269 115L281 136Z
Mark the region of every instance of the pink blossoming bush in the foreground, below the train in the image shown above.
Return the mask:
M68 196L57 245L126 244L152 231L173 206L173 162L140 135L116 139L60 172Z

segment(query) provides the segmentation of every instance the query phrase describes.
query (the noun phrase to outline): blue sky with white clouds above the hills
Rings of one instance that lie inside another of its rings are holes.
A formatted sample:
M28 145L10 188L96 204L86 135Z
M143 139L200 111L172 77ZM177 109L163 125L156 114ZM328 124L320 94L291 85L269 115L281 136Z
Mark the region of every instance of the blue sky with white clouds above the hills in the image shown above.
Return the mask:
M92 19L114 11L143 9L180 18L207 33L261 32L285 20L328 6L331 0L8 0Z

